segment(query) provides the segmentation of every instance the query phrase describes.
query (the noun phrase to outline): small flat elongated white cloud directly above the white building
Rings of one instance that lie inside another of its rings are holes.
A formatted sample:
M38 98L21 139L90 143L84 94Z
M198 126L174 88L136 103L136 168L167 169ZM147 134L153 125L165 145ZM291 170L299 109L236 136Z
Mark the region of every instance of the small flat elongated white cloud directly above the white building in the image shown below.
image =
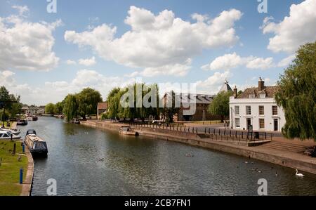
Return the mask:
M231 70L245 65L249 69L266 70L274 67L273 58L241 57L237 53L225 54L214 59L211 64L202 66L203 70Z

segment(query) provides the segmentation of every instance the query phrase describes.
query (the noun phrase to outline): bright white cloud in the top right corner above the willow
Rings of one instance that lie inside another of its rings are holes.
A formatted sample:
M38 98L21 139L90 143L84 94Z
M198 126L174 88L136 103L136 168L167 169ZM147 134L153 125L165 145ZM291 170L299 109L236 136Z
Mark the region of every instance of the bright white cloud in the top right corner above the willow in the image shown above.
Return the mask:
M289 16L282 22L263 22L263 33L273 33L268 49L274 52L294 53L299 46L316 40L316 0L292 4Z

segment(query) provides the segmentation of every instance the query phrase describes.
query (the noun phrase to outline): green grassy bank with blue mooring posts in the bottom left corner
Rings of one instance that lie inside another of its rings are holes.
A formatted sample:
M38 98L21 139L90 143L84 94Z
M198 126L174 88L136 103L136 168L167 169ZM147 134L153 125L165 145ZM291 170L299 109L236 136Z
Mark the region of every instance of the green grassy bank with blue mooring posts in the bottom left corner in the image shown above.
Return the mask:
M22 153L20 142L16 143L16 154L11 155L14 142L0 140L0 158L2 158L0 166L0 196L18 196L21 193L22 185L19 184L20 168L24 169L24 178L27 172L27 157ZM23 178L23 180L24 180Z

